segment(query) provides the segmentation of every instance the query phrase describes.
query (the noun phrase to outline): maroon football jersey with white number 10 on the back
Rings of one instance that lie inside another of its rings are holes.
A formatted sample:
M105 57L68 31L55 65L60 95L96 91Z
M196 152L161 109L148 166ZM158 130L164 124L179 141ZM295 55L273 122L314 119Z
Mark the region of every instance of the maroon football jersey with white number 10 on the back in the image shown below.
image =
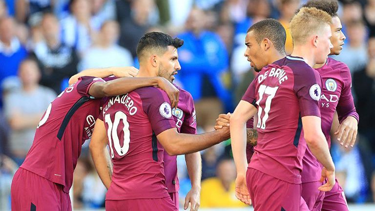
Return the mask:
M175 128L167 94L145 87L104 102L103 116L113 162L107 200L169 197L163 154L156 136Z

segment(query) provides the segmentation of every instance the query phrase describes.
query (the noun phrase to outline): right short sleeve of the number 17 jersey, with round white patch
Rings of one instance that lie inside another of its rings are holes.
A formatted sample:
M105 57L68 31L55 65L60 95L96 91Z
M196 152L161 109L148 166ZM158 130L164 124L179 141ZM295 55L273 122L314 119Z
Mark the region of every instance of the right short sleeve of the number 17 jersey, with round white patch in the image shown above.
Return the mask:
M319 116L319 100L322 93L322 78L311 67L298 67L294 74L294 92L298 98L298 105L302 116Z

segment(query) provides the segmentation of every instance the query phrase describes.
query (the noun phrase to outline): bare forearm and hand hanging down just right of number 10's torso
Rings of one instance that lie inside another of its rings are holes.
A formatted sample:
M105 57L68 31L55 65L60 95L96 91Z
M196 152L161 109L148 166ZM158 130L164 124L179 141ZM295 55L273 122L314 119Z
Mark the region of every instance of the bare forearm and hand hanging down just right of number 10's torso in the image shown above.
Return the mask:
M190 211L198 211L201 198L202 158L199 152L185 154L187 173L191 189L185 197L184 209L190 204Z

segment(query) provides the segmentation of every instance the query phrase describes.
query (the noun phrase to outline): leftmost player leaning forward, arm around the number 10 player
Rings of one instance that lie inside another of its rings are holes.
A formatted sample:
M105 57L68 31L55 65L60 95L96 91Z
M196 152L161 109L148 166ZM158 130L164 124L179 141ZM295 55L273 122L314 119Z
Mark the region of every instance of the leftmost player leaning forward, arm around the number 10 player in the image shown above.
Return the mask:
M125 72L125 75L135 76L137 70L129 67ZM108 82L102 78L80 77L67 87L49 104L37 127L33 145L13 177L12 211L71 211L69 189L73 171L82 144L92 135L102 105L100 97L152 85L175 89L161 77L128 77Z

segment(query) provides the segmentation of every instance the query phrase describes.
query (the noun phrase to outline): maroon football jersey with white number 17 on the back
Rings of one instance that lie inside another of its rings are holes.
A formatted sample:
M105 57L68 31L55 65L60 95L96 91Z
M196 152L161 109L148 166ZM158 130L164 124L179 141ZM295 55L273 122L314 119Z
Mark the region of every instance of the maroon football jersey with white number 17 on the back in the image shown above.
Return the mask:
M320 117L321 77L303 58L287 56L264 67L253 83L242 98L258 107L258 143L249 168L300 184L306 150L301 117Z

